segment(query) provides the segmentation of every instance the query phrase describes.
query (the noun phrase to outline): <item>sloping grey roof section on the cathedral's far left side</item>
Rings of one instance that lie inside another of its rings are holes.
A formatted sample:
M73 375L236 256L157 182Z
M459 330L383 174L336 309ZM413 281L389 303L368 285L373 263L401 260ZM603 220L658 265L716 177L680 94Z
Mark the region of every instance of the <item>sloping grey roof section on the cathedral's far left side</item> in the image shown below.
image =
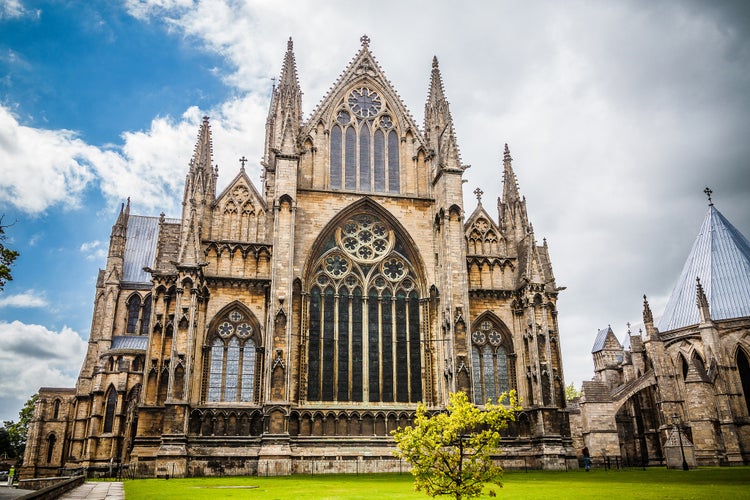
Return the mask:
M179 219L165 219L167 223ZM129 283L151 283L151 275L144 267L154 266L156 243L159 240L159 218L130 215L125 240L125 259L122 266L122 281Z

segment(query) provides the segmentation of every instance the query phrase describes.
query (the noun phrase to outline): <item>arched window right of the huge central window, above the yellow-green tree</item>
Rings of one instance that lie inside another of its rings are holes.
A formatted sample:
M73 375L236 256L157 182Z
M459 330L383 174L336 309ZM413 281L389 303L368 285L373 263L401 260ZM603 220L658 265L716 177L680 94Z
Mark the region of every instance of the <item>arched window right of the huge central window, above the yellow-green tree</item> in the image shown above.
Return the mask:
M485 317L471 334L475 404L484 404L488 399L497 402L502 393L515 386L514 370L509 362L513 346L503 331L501 325Z

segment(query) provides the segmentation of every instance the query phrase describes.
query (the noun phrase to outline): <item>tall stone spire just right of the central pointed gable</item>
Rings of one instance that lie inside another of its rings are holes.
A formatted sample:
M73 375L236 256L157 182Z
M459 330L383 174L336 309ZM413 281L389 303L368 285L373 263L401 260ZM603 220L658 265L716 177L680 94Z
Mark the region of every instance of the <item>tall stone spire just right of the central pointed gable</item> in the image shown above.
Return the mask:
M445 98L437 57L432 58L430 91L424 108L424 130L429 147L437 155L439 168L463 171L453 129L453 117Z

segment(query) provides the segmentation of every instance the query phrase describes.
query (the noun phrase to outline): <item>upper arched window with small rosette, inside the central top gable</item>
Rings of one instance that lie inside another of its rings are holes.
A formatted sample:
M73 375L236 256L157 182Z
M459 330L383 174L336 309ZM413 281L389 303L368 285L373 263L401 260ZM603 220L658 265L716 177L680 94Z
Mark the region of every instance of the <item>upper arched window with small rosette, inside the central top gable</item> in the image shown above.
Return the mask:
M331 126L330 152L331 189L401 191L397 127L372 89L354 89L341 102Z

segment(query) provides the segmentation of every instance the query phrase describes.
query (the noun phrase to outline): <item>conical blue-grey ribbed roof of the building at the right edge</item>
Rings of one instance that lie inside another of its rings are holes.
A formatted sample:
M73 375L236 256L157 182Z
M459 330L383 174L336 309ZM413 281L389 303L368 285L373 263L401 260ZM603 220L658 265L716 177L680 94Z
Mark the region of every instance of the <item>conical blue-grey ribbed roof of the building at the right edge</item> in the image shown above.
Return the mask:
M701 280L712 319L750 316L750 243L713 205L667 301L659 331L700 322L696 278Z

